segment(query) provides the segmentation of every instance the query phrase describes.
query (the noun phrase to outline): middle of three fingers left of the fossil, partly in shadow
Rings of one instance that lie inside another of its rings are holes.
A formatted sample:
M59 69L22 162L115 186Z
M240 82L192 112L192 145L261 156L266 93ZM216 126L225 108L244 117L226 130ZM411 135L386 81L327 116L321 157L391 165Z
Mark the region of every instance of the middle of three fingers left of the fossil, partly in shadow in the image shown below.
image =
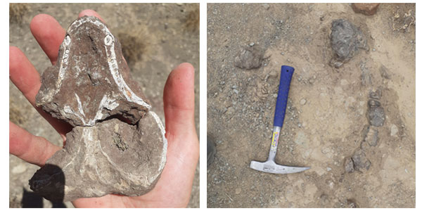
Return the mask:
M64 138L64 134L69 132L72 127L70 127L70 124L56 120L35 105L35 96L37 96L39 87L41 87L39 73L25 54L15 46L9 47L9 77L38 113Z

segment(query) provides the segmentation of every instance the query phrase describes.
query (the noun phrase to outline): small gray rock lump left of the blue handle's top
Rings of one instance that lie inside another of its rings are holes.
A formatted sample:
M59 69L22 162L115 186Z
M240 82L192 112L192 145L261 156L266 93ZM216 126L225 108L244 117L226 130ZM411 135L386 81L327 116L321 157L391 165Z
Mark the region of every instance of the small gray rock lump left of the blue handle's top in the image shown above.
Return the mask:
M262 65L262 56L264 56L264 52L262 52L259 46L256 44L254 46L248 46L236 56L234 65L246 70L260 68Z

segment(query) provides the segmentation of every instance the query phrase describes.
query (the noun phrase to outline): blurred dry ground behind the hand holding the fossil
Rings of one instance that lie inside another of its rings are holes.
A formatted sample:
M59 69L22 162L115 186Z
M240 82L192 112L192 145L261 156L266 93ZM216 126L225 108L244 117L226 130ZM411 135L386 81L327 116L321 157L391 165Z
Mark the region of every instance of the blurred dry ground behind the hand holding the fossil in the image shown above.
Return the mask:
M196 70L196 129L199 132L199 4L20 4L11 5L9 44L18 46L41 73L51 65L30 32L30 20L39 13L52 15L63 28L86 9L94 9L122 43L125 58L153 111L164 122L162 90L167 75L179 63L192 63ZM10 120L57 145L63 141L9 83ZM28 180L39 167L13 155L9 157L10 207L72 207L52 204L30 190ZM199 207L199 164L188 207Z

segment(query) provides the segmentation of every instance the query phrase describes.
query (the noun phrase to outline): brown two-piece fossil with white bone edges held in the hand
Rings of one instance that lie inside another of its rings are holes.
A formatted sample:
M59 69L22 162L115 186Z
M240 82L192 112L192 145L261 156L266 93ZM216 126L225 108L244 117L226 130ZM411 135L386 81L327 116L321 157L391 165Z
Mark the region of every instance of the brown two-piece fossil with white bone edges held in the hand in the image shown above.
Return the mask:
M155 186L166 161L165 129L101 20L84 16L70 25L36 101L74 128L30 179L33 191L69 201L141 196Z

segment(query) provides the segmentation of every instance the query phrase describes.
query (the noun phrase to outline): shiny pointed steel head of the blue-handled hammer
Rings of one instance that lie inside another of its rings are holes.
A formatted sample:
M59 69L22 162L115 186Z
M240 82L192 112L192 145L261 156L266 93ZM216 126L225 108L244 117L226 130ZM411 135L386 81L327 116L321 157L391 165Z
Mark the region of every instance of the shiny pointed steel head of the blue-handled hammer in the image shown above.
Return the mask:
M272 174L293 174L309 170L309 167L291 167L286 165L278 165L273 160L267 160L265 162L252 160L249 167L253 170Z

